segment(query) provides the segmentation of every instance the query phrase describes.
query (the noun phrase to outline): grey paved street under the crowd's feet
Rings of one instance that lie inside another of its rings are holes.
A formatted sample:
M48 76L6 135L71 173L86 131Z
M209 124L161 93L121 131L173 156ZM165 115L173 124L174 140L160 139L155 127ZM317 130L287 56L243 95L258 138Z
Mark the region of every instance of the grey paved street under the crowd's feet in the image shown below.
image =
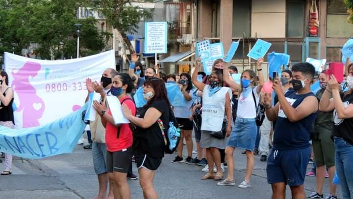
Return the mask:
M156 173L155 188L160 199L269 199L271 188L266 180L266 163L255 156L252 187L239 189L221 187L214 180L200 180L202 167L173 164L175 157L166 155ZM244 179L246 157L241 150L234 152L235 180ZM2 159L4 160L4 159ZM98 181L93 170L91 150L77 145L74 153L40 160L24 160L15 157L13 174L0 176L0 199L93 199L98 192ZM135 166L135 165L134 165ZM312 164L309 164L311 167ZM4 163L0 164L2 171ZM136 172L136 168L134 167ZM324 193L328 192L328 179ZM132 199L142 199L138 180L129 181ZM306 193L315 190L315 177L306 177ZM340 197L340 190L338 190ZM287 198L290 197L289 187Z

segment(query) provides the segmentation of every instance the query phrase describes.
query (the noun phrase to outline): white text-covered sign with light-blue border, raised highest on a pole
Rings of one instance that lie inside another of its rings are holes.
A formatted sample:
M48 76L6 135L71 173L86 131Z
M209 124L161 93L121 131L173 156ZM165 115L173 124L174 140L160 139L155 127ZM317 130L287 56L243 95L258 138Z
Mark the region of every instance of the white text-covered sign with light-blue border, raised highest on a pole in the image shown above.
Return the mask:
M167 53L167 22L145 23L145 53Z

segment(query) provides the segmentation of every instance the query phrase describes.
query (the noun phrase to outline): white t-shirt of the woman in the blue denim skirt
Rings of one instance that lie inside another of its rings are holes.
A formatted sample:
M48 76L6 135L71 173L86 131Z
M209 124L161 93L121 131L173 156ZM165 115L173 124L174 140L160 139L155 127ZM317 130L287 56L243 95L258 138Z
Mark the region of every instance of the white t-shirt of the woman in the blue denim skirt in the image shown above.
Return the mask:
M257 94L257 86L252 89L255 95L256 107L258 106L260 96ZM252 92L245 98L243 93L240 94L238 100L237 117L239 118L256 118L256 109L252 97Z

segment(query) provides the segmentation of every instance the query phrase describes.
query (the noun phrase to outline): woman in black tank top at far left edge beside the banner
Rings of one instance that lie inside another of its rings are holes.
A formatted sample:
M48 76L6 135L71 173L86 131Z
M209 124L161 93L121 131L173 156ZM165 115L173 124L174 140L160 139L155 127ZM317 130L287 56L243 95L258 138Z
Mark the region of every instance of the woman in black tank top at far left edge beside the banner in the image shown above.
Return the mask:
M8 75L5 71L0 72L0 126L14 128L14 115L12 103L14 100L13 89L8 86ZM11 174L12 155L5 154L5 170L1 175Z

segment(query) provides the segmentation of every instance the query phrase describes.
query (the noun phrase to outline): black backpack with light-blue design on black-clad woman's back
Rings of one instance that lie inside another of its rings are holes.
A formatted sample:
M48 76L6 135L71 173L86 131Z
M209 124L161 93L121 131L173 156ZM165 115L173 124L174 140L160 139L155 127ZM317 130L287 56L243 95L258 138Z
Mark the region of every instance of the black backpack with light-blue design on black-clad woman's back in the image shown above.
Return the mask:
M171 108L169 108L169 121L167 135L164 133L163 121L161 119L157 120L159 128L161 130L163 140L164 140L164 153L173 154L176 151L176 147L180 141L180 129L176 121L176 117Z

